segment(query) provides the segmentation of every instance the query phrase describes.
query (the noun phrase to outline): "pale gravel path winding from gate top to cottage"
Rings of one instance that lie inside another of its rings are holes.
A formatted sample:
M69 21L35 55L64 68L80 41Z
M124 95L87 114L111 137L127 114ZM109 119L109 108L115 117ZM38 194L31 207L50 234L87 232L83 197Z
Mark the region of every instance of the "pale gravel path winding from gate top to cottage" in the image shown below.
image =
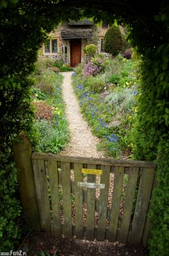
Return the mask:
M66 149L60 154L78 157L103 157L103 152L96 150L96 145L100 143L100 140L93 136L90 126L88 126L80 113L79 103L71 85L73 72L64 72L62 74L64 76L63 100L66 103L66 116L71 140Z

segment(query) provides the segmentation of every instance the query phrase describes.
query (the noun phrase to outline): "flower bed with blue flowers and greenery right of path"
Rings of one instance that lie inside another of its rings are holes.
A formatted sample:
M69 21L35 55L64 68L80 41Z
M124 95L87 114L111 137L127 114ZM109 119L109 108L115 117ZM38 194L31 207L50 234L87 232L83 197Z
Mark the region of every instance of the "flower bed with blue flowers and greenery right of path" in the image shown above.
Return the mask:
M93 133L102 139L98 146L106 156L129 157L131 130L137 115L138 81L136 63L117 57L104 73L85 77L82 65L73 74L73 85L81 112Z

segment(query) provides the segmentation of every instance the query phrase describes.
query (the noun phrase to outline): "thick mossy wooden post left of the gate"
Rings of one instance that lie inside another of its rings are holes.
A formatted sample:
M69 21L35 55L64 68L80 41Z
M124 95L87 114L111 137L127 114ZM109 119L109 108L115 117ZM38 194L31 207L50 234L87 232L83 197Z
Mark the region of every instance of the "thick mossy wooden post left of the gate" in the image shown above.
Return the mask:
M21 142L14 141L12 150L16 167L19 169L19 192L24 209L25 221L34 230L40 230L39 210L35 192L35 181L32 168L32 147L30 140L19 135Z

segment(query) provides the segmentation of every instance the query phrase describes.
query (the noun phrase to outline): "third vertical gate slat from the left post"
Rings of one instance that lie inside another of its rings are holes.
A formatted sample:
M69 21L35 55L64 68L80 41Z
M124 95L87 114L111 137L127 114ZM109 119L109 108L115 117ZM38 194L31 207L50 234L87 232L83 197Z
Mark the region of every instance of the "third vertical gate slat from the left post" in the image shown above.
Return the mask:
M70 164L61 162L61 179L63 187L63 215L65 237L72 237L72 207L71 207L71 187L70 187Z

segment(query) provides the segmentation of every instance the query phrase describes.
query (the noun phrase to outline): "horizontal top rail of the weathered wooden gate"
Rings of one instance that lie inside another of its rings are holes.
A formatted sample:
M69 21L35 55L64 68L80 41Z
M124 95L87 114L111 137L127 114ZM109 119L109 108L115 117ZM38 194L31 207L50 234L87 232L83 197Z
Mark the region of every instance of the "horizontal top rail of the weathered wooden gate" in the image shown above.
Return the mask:
M111 165L111 166L121 166L121 167L143 167L143 168L155 168L156 165L148 161L122 161L113 160L107 158L94 158L94 157L69 157L69 156L59 156L57 154L45 154L45 153L33 153L32 159L44 159L52 161L63 161L79 164L101 164L101 165Z

